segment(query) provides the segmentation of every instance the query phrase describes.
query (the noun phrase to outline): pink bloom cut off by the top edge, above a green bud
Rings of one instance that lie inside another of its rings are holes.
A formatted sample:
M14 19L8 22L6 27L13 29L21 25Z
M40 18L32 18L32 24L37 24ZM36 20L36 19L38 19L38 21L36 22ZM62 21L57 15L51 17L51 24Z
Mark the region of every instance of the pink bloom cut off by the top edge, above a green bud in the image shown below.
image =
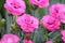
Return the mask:
M49 5L49 0L29 0L30 4L38 5L39 8L46 8Z

